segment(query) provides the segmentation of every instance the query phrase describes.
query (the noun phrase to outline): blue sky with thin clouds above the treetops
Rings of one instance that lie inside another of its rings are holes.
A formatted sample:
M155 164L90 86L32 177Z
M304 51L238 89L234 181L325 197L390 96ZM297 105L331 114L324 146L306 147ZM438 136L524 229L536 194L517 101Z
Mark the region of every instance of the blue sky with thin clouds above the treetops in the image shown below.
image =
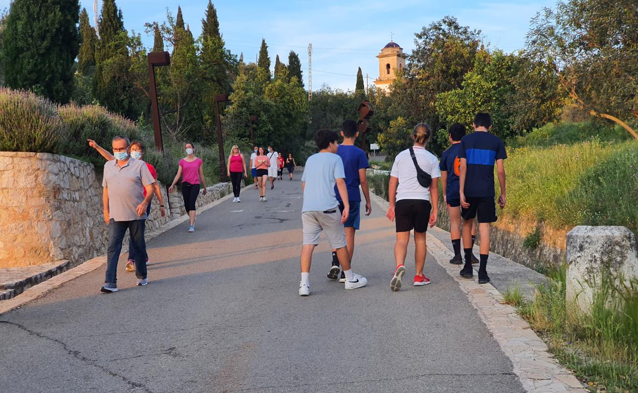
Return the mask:
M81 1L93 23L93 1ZM101 3L101 1L100 1ZM142 34L146 46L152 36L144 33L144 23L165 20L166 10L177 13L181 5L184 20L197 37L202 30L208 0L117 0L130 32ZM0 0L0 9L10 0ZM287 62L288 52L299 54L308 87L308 43L313 44L313 90L322 85L354 89L357 67L369 83L378 77L376 55L390 41L409 53L414 34L424 26L452 15L463 25L480 29L484 41L506 52L520 49L530 18L555 0L369 0L369 1L214 1L226 47L234 54L244 52L246 61L255 61L262 38L275 55ZM323 72L321 72L323 71ZM343 74L343 75L338 75Z

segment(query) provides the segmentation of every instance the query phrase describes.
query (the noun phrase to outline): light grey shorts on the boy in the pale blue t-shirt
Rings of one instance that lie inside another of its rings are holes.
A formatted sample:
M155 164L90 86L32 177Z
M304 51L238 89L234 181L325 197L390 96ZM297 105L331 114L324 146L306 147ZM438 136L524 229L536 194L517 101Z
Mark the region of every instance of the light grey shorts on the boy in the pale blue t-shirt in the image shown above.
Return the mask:
M323 231L331 248L346 247L346 231L341 224L341 213L338 208L334 213L323 211L304 211L301 222L304 228L304 245L318 245L319 235Z

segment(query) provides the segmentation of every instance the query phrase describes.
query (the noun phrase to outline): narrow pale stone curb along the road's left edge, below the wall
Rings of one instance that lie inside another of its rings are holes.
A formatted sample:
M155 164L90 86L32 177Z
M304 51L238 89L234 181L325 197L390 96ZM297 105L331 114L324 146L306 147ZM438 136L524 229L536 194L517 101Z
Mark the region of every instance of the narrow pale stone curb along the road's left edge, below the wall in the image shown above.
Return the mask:
M249 185L247 187L244 187L242 191L248 190L250 187L253 187L253 186ZM201 208L198 209L198 211L202 213L206 210L209 210L210 208L214 206L217 206L220 203L223 203L224 201L226 201L227 199L230 199L231 197L232 197L232 192L226 196L219 198L216 201L213 201L205 206L202 206ZM186 222L186 220L188 220L188 215L182 215L180 218L176 218L175 220L169 221L167 222L167 224L163 225L156 231L147 232L145 239L149 240L158 236L159 234L163 234L164 232L167 232L170 229L173 229L177 225L182 224L182 222ZM122 248L122 255L126 252L128 252L128 250L125 250L124 248ZM19 294L18 296L15 296L11 299L0 302L0 315L3 315L7 311L13 310L14 308L23 306L24 304L27 304L30 301L38 299L38 297L44 296L50 290L56 289L57 287L63 285L66 282L69 282L87 273L91 273L91 271L94 271L95 269L100 268L100 266L102 266L105 263L107 263L107 256L100 255L99 257L89 259L89 261L86 261L73 269L69 269L65 271L64 273L54 276L43 283L34 285L33 287L22 292L22 294Z

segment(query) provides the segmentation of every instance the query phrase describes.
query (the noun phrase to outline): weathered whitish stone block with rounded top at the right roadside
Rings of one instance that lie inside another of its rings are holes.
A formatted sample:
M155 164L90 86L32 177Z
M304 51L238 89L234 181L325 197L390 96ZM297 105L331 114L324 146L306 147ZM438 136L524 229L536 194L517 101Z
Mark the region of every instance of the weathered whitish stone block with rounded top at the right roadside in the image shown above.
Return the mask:
M615 283L638 279L638 243L621 226L574 227L567 234L567 301L589 311L593 294L605 275Z

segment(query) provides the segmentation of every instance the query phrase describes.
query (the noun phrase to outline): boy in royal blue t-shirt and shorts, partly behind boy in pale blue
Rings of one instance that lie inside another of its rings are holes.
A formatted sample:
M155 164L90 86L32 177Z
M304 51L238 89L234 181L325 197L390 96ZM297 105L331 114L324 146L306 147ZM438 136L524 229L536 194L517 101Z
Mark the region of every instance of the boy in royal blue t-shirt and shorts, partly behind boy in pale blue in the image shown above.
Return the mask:
M352 262L352 256L355 252L355 231L359 229L360 224L360 204L361 194L359 192L359 185L363 190L363 195L366 198L366 215L372 213L372 205L370 204L370 190L367 187L366 169L369 168L367 164L366 153L355 146L355 140L359 136L357 132L357 122L354 120L346 120L341 126L341 136L343 136L343 143L339 145L337 154L343 161L343 169L346 173L346 188L348 189L348 204L350 205L350 213L348 214L348 220L343 223L346 231L346 243L348 244L348 255ZM339 195L337 187L334 187L334 192L339 201L339 210L343 213L345 210L345 204ZM332 250L332 267L328 272L328 278L336 280L339 276L339 259L337 258L336 250ZM341 272L340 282L346 282L346 276Z

